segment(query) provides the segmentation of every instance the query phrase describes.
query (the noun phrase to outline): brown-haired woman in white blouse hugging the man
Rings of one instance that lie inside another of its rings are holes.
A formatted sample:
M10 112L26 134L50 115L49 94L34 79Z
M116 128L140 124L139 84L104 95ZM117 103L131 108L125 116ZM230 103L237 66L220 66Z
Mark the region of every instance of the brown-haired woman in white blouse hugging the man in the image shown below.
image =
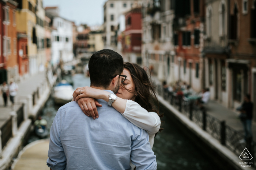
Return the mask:
M112 106L131 123L148 132L152 149L155 134L162 130L160 129L161 120L159 118L162 115L153 109L151 103L152 97L158 101L154 86L148 78L147 72L137 64L124 63L123 74L127 75L127 78L122 82L116 94L117 99L112 103ZM95 119L100 116L96 108L96 105L100 106L100 104L94 99L103 99L108 102L109 94L107 91L91 87L79 87L73 96L83 112Z

